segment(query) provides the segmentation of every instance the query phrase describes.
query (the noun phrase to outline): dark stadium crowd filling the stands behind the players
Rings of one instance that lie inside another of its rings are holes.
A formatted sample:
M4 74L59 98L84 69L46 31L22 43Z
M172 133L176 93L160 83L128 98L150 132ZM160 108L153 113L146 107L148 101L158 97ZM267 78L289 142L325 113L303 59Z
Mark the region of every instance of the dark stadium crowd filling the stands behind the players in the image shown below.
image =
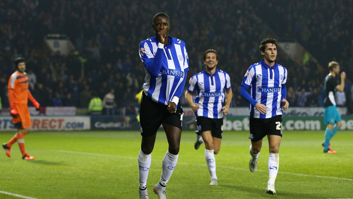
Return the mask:
M103 99L114 89L115 113L121 114L123 107L139 107L134 98L142 88L144 72L138 45L154 36L152 15L165 12L172 19L170 35L187 45L188 79L203 69L205 50L219 52L217 68L231 76L231 107L248 106L239 95L241 80L247 68L261 59L259 42L272 36L298 41L318 60L298 64L284 54L277 56L288 70L291 106L323 106L327 64L335 60L347 73L345 92L337 96L346 98L340 105L352 114L353 40L349 35L353 33L349 27L353 27L353 8L347 6L352 4L353 0L213 4L202 0L4 0L0 2L2 105L8 107L13 60L24 57L31 92L41 106L88 107L92 92ZM47 34L66 34L76 50L68 55L49 51L43 42ZM87 59L84 74L81 57ZM181 101L186 104L185 99Z

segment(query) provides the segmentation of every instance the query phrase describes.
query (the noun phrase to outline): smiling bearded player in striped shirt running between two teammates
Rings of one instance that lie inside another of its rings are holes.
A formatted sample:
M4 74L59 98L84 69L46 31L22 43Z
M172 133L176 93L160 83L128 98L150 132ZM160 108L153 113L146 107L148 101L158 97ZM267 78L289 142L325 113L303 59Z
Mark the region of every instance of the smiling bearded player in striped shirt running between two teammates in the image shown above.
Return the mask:
M228 73L217 69L218 54L214 49L203 55L205 70L192 76L185 92L185 99L196 115L198 126L195 149L205 144L205 159L211 174L210 185L218 185L216 159L221 147L223 114L227 115L232 100L231 79ZM192 93L196 90L195 102ZM226 101L225 101L226 100Z

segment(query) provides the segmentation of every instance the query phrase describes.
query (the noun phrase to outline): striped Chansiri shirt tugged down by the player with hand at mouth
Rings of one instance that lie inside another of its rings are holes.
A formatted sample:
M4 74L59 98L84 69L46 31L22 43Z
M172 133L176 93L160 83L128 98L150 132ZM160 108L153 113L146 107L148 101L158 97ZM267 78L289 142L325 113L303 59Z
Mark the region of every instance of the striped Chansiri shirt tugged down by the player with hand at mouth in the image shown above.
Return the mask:
M158 43L157 37L151 37L139 46L145 72L143 92L153 101L168 105L183 92L189 57L184 41L169 36L168 45L158 48Z

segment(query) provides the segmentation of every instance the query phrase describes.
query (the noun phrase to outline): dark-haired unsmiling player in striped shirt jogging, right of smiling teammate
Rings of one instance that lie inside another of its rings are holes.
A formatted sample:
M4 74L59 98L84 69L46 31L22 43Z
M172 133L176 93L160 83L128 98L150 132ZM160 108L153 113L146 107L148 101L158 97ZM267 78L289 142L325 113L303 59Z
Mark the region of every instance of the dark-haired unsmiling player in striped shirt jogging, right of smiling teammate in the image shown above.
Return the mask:
M279 147L282 139L282 110L287 110L287 69L277 64L275 39L264 39L259 46L263 60L246 71L241 83L240 95L250 103L250 155L249 169L255 172L262 139L267 135L269 142L266 193L275 194L275 180L279 168ZM247 89L250 87L250 94Z

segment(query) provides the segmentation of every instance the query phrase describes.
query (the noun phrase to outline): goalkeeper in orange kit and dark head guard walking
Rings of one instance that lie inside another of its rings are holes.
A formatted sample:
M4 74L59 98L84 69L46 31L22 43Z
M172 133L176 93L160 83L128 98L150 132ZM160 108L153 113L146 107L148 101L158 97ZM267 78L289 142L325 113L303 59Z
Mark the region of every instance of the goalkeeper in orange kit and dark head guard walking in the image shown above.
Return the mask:
M28 75L25 72L26 64L22 57L15 59L16 71L8 80L8 101L10 102L10 113L14 127L17 133L7 142L2 144L6 155L11 157L10 150L13 143L18 142L22 159L32 160L34 157L26 153L23 137L31 130L31 116L28 110L28 99L33 103L34 107L39 110L39 103L33 98L28 90Z

